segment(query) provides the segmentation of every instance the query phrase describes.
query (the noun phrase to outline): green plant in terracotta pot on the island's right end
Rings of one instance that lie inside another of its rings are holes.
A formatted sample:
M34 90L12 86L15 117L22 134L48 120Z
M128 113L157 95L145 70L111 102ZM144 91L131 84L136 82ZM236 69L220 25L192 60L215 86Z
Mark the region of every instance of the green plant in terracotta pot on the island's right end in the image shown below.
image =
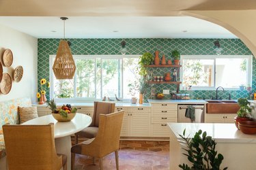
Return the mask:
M250 107L247 99L244 99L244 98L238 99L238 104L240 105L240 109L237 112L238 116L234 118L237 128L238 128L238 122L251 119L251 111L252 111L252 108Z

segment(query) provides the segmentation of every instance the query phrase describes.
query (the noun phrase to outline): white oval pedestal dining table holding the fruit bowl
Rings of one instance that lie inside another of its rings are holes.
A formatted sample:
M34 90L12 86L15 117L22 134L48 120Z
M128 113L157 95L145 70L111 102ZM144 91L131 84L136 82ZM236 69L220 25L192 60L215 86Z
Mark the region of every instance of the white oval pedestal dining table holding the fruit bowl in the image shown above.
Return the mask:
M53 116L41 116L23 124L49 124L54 123L55 148L58 154L68 156L68 169L71 169L71 135L85 129L91 124L91 117L85 114L76 113L76 116L69 122L58 122Z

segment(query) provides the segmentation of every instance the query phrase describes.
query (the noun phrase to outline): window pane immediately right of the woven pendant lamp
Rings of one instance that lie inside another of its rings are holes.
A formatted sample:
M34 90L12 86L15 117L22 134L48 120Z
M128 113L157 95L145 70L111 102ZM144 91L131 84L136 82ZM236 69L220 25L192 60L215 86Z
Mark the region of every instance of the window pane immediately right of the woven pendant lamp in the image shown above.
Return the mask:
M76 59L76 97L96 97L95 59Z

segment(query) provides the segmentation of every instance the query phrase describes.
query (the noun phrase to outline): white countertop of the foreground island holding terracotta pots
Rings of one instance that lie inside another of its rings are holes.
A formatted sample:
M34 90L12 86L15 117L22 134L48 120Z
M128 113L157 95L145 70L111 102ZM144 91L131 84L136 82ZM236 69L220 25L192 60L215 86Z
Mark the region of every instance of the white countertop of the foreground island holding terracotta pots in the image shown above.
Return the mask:
M216 142L221 143L256 143L256 135L246 135L236 128L233 123L168 123L169 128L177 139L182 139L186 129L186 137L193 137L199 129L206 131Z

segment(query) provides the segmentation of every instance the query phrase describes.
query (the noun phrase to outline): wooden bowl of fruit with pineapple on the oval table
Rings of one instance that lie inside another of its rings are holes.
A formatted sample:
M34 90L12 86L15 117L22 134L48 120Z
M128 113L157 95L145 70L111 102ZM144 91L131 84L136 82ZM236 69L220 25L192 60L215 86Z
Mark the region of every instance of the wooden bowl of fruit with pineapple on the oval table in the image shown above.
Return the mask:
M46 104L47 104L47 107L48 106L50 107L53 118L55 118L55 120L59 122L68 122L72 120L74 116L76 116L77 108L76 107L72 108L70 104L57 107L54 102L54 99L51 99L51 101L47 101Z

